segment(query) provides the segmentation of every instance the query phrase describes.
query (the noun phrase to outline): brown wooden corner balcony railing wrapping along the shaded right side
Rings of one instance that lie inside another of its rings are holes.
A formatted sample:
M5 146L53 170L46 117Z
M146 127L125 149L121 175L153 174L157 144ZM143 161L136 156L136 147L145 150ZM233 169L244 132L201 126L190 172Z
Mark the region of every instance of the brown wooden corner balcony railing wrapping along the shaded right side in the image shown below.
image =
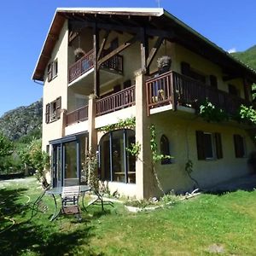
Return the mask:
M223 90L217 90L207 84L176 72L164 73L146 81L148 115L150 109L172 104L196 108L206 99L216 107L224 109L229 114L236 114L241 104L250 105L241 97L232 96Z

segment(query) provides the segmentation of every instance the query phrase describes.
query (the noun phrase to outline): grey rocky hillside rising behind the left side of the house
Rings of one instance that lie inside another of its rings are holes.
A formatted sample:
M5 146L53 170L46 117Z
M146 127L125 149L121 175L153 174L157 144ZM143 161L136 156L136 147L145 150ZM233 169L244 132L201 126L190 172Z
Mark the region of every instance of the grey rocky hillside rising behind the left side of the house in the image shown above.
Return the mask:
M40 137L42 112L42 100L10 110L0 118L0 132L13 141L23 137Z

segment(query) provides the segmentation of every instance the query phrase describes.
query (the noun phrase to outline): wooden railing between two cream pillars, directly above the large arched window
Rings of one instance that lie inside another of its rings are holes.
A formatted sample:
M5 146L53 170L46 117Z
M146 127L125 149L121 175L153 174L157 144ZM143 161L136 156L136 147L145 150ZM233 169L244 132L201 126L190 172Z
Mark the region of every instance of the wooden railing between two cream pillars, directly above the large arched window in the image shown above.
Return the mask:
M135 85L96 102L96 115L110 113L135 104Z

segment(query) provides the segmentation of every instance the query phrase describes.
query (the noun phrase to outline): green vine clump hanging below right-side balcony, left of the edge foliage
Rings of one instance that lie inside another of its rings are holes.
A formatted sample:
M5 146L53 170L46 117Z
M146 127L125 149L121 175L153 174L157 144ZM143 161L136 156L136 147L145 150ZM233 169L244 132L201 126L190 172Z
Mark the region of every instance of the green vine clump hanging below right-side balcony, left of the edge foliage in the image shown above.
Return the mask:
M215 107L208 100L201 104L199 115L207 122L223 122L229 120L229 115L223 109Z

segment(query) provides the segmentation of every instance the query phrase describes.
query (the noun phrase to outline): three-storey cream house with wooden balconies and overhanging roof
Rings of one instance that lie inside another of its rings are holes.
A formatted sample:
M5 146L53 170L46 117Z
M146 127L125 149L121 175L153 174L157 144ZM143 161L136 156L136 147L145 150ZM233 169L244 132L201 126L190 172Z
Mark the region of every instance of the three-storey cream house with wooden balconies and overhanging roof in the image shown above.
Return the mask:
M169 67L158 68L161 56ZM249 172L252 126L207 122L196 108L207 99L236 115L252 103L255 71L164 9L57 9L32 79L44 82L43 150L54 186L84 183L89 150L108 189L137 198ZM120 119L130 126L116 129ZM156 152L173 157L154 168L150 125Z

